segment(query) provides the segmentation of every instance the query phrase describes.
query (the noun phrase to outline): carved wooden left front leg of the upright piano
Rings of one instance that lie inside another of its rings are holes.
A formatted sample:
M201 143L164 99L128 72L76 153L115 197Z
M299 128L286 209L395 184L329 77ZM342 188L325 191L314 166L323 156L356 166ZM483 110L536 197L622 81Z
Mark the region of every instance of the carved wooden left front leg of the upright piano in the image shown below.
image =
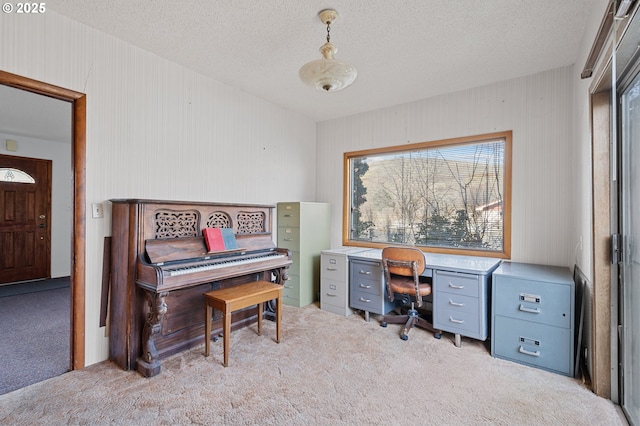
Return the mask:
M169 293L152 293L147 290L144 293L149 312L142 330L142 355L136 360L136 369L143 376L152 377L160 373L161 365L155 337L162 331L162 318L167 313L167 304L164 299Z

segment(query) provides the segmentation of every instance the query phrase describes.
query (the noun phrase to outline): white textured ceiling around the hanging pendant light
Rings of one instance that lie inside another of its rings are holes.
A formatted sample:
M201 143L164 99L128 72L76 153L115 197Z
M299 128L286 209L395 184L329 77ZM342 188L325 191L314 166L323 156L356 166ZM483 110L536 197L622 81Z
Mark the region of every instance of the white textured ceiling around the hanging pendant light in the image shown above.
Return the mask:
M590 9L601 3L49 0L47 10L324 121L571 65ZM326 8L339 14L331 26L336 59L358 69L352 86L333 93L298 78L321 57L326 27L317 14ZM5 111L16 115L15 106L0 103L0 120Z

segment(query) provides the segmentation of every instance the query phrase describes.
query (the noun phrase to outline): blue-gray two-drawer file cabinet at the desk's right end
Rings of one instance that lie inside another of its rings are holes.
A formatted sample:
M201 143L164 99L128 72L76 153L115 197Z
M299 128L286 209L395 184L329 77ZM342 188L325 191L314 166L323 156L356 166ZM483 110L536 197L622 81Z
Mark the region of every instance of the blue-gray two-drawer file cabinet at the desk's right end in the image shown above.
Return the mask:
M491 355L573 377L569 268L503 263L493 272Z

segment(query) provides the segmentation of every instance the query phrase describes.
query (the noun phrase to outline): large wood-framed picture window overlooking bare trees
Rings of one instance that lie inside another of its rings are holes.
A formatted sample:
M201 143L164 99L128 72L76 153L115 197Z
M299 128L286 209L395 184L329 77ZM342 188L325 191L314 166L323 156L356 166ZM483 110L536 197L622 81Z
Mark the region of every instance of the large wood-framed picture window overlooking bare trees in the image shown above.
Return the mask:
M343 243L509 258L511 132L344 154Z

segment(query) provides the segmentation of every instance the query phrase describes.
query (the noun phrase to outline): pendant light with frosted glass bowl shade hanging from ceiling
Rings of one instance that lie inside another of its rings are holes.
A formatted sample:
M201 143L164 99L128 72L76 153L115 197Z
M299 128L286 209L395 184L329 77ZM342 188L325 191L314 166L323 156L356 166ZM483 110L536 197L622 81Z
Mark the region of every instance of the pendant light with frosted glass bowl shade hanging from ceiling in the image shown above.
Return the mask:
M338 12L325 9L318 13L322 23L327 25L327 42L320 47L322 59L311 61L300 68L300 79L311 87L323 92L337 92L356 80L358 71L353 65L340 62L333 56L338 49L331 44L331 24Z

